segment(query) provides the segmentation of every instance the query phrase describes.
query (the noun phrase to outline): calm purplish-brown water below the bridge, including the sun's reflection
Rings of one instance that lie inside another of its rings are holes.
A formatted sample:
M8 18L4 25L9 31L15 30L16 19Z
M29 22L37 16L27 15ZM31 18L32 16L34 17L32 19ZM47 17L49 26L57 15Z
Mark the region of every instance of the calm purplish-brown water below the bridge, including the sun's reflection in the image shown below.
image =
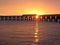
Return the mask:
M0 45L60 45L60 23L2 21Z

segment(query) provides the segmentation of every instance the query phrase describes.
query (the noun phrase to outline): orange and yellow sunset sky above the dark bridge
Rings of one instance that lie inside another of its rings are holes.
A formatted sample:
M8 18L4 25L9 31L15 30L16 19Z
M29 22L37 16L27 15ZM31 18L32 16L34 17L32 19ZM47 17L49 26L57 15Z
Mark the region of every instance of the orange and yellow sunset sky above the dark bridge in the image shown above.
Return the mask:
M60 0L0 0L0 15L60 14Z

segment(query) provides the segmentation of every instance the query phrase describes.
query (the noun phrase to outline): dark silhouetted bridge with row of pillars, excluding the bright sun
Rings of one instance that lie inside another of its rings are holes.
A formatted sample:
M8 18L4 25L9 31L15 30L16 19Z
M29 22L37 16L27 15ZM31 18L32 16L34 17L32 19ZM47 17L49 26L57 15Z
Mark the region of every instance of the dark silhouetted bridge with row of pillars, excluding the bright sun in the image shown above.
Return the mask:
M35 21L36 15L0 16L0 21ZM40 15L39 21L60 22L60 15Z

